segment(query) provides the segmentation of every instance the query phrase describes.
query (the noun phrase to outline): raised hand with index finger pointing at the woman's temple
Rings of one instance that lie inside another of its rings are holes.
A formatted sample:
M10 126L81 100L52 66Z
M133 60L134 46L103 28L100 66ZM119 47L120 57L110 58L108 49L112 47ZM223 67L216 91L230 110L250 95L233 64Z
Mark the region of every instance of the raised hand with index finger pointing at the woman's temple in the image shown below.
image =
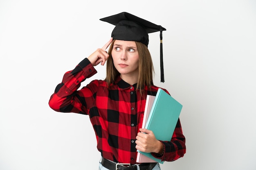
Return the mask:
M104 65L106 63L106 60L108 59L109 55L108 52L106 52L106 49L113 41L113 38L111 38L107 44L105 44L102 48L98 48L96 51L94 51L89 57L88 60L92 63L93 66L98 65L101 63L101 65Z

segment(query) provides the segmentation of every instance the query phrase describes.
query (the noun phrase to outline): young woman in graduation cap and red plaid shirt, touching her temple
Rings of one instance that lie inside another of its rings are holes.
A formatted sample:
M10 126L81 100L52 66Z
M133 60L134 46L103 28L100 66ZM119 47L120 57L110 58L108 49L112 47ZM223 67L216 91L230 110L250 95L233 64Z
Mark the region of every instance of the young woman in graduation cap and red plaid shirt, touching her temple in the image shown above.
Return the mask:
M101 170L159 170L158 163L137 163L137 150L162 161L174 161L186 152L180 120L171 141L159 141L152 131L141 129L146 95L155 96L159 88L153 85L153 63L147 48L148 30L152 29L148 26L158 31L159 26L125 12L101 20L116 25L112 38L64 74L49 106L90 116L102 156ZM99 63L107 65L106 79L78 90L82 81L97 73L94 66Z

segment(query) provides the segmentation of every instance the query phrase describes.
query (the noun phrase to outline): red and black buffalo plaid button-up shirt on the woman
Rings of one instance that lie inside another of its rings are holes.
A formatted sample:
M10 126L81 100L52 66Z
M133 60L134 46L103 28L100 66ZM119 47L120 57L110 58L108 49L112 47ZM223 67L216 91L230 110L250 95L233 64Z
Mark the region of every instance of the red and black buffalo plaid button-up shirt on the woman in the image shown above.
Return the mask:
M145 98L142 98L139 90L135 89L136 85L129 85L118 76L110 88L106 81L94 80L78 90L82 81L96 73L85 58L74 70L64 74L62 83L57 85L49 100L49 106L59 112L89 115L102 157L119 163L135 164L135 140L142 126L146 95L155 96L159 87L145 87ZM165 146L162 161L183 157L186 146L180 120L171 141L161 142Z

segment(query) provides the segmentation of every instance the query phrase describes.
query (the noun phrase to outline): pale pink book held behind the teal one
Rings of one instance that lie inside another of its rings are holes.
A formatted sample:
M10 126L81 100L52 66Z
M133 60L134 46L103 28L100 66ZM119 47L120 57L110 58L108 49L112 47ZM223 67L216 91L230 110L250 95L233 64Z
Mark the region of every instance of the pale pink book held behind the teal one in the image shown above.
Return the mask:
M155 96L147 95L146 98L146 105L145 105L145 111L144 111L144 117L143 117L143 122L142 122L142 127L145 128L146 122L148 120L148 116L150 114L150 110L152 108L153 102L155 100ZM138 163L146 163L146 162L157 162L146 155L143 155L141 153L137 153L137 160Z

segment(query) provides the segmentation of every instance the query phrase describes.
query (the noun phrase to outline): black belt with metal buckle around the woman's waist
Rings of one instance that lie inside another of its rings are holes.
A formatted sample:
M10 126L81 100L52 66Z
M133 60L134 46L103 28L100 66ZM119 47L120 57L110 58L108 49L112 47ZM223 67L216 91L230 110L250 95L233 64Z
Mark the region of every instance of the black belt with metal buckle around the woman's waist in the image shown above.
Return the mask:
M140 170L152 170L157 163L140 163ZM108 159L102 158L101 165L109 170L137 170L136 165L124 166L122 163L115 163ZM116 169L117 168L117 169Z

